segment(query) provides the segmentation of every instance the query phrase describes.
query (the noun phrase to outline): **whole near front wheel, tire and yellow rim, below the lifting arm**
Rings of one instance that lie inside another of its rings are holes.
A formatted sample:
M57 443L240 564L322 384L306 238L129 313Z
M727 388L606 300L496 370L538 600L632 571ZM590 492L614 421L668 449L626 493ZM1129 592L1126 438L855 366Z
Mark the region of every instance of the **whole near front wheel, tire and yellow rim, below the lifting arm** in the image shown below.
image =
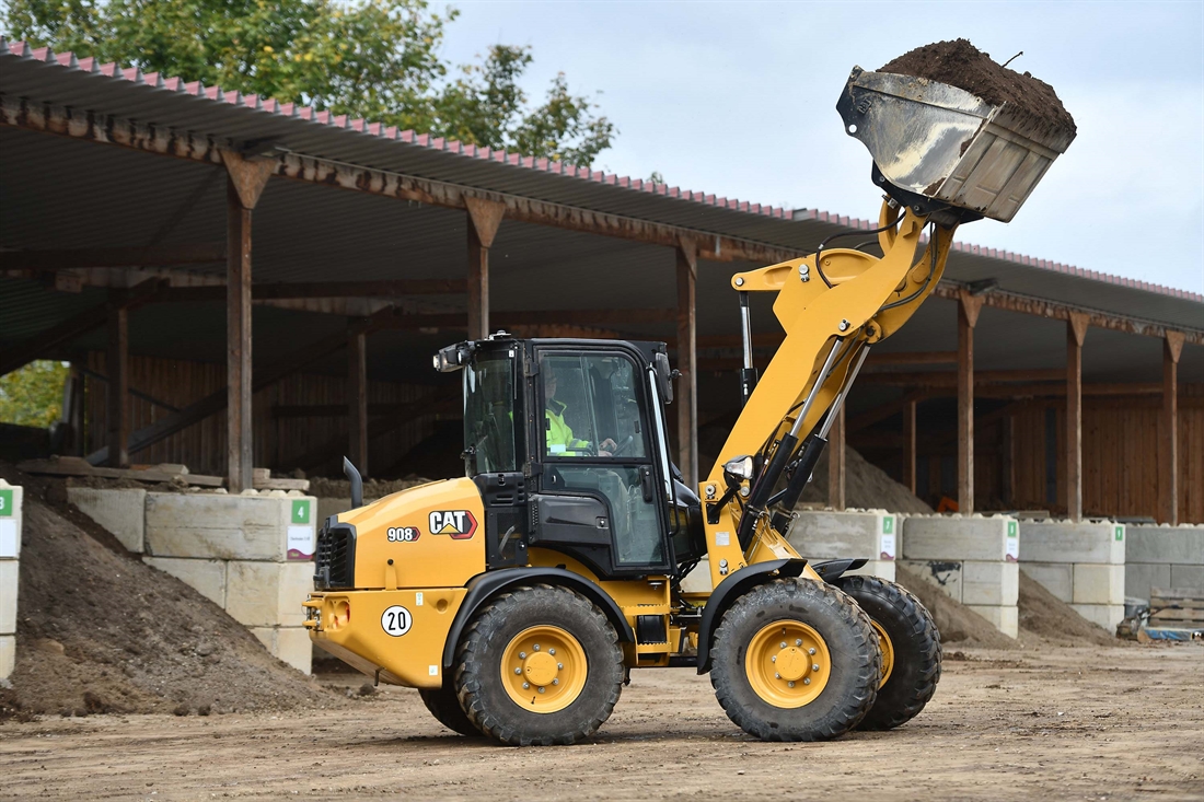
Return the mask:
M710 682L728 718L762 741L824 741L874 703L880 656L869 618L810 579L754 588L724 614Z

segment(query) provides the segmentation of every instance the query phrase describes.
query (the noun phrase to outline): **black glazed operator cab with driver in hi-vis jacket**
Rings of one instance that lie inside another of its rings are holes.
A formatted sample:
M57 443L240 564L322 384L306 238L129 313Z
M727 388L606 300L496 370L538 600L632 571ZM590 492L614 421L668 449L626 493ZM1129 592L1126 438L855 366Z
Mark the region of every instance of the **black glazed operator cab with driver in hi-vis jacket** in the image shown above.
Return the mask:
M680 576L706 554L698 497L669 461L663 343L498 334L435 361L462 370L465 473L490 568L539 547L627 579Z

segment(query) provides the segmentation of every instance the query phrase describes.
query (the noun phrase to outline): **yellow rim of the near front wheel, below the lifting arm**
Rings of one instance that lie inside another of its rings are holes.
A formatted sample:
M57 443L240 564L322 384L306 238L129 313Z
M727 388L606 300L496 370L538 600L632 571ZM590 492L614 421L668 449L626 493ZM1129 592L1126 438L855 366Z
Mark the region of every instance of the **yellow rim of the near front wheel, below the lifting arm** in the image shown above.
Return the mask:
M774 707L814 702L832 674L832 655L820 633L802 621L768 624L752 636L744 655L749 684Z

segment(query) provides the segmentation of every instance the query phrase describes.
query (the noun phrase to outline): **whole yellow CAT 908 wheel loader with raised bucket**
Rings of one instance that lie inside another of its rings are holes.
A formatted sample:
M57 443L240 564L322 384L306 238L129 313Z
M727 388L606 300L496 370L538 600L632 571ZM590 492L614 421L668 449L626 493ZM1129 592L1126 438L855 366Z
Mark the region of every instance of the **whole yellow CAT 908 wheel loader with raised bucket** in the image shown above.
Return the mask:
M318 536L314 643L507 744L589 738L635 668L709 672L732 721L771 741L923 708L940 677L927 611L846 573L864 560L808 562L786 539L791 511L870 348L940 281L954 230L1010 219L1073 132L860 69L837 108L885 193L881 255L825 242L732 276L743 411L710 474L686 486L671 461L663 343L500 332L444 348L436 368L464 381L466 476L361 506L344 461L354 508ZM786 332L761 376L749 293L775 296Z

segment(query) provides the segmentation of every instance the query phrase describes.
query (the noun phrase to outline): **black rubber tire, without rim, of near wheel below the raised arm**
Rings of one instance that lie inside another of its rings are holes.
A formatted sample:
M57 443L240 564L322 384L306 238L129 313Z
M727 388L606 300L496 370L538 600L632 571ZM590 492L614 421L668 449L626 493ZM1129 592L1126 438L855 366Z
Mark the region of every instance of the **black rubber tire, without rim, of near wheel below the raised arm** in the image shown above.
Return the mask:
M766 701L746 670L755 639L775 621L809 626L828 651L826 684L801 707ZM827 741L851 730L874 703L881 660L861 608L837 588L810 579L778 579L736 600L715 632L712 655L710 683L719 703L737 726L762 741Z

